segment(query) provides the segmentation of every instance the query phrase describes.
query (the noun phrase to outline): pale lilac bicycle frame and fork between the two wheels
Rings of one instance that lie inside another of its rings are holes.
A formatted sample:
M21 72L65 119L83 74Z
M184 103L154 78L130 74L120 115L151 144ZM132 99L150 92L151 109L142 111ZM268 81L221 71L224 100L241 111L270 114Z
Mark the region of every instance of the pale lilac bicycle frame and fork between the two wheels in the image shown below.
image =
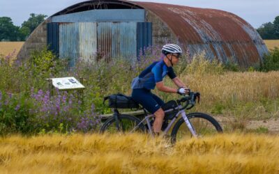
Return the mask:
M178 109L181 109L182 106L179 105L178 106ZM177 108L176 108L177 109ZM165 111L165 113L168 113L172 111L172 109L169 109L167 111ZM195 132L195 129L193 127L193 125L191 124L191 122L189 121L187 115L186 115L186 111L185 109L179 111L178 113L176 113L176 115L174 116L174 118L172 118L171 122L167 125L167 128L164 130L163 132L163 135L167 134L167 132L169 132L169 129L170 127L172 127L172 125L174 124L174 122L179 118L179 115L181 114L183 120L185 121L186 123L186 126L188 127L188 129L190 130L190 132L192 133L192 135L194 137L197 137L197 133ZM144 121L146 121L146 124L147 124L147 127L149 128L149 134L151 134L153 136L153 132L152 132L152 127L151 127L151 123L150 123L150 118L153 118L155 117L154 114L151 114L151 115L148 115L148 116L145 116L144 119L137 125L135 126L135 128L131 131L135 131L135 129L137 129L138 127L140 127L140 124L142 124Z

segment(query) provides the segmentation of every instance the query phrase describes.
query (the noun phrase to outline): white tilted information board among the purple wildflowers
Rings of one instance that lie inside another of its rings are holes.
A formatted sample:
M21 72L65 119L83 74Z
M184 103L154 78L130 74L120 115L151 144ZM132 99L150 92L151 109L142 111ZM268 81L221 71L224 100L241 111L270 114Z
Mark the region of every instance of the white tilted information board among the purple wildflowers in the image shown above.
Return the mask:
M52 79L52 85L59 90L77 90L85 87L75 77L63 77Z

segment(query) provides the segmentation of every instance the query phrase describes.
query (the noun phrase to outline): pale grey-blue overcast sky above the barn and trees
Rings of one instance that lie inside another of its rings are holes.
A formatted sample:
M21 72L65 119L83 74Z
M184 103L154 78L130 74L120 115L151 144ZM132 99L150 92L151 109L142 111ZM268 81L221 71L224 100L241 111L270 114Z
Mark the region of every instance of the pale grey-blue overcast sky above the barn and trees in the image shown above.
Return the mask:
M279 16L279 0L137 0L158 3L172 3L198 8L225 10L245 19L255 28L266 22L273 22ZM30 13L53 15L80 0L0 0L0 17L13 19L20 26Z

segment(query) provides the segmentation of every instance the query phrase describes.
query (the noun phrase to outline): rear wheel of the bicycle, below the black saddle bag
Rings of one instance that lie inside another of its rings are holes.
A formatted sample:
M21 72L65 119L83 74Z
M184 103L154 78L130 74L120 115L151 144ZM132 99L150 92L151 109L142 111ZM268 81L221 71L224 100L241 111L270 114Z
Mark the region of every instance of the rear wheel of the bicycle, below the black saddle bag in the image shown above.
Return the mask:
M118 124L114 116L107 119L100 128L100 133L145 132L145 126L143 123L140 123L141 120L139 118L124 114L119 115L118 118Z

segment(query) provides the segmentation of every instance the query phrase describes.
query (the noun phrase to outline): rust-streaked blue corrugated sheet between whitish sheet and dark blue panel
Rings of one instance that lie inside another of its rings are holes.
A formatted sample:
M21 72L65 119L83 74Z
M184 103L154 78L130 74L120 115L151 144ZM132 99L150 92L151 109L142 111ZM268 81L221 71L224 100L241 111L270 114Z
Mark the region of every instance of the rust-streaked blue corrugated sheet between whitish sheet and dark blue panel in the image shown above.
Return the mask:
M98 52L108 58L123 57L135 61L137 57L136 22L98 22Z

